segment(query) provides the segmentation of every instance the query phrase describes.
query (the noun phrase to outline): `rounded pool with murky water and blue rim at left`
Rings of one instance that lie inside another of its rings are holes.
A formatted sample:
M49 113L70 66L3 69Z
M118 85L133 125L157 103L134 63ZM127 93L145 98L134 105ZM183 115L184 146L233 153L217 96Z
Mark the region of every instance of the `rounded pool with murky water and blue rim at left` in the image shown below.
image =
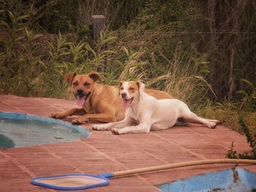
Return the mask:
M0 112L0 148L69 142L89 137L89 131L63 120Z

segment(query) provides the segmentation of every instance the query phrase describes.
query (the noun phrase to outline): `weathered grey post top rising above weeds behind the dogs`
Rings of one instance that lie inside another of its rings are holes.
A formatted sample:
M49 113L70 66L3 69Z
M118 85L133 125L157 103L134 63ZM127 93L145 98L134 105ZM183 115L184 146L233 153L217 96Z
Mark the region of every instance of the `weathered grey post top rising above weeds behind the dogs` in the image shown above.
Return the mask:
M106 28L106 18L104 15L92 15L92 38L96 42L99 39L100 31Z

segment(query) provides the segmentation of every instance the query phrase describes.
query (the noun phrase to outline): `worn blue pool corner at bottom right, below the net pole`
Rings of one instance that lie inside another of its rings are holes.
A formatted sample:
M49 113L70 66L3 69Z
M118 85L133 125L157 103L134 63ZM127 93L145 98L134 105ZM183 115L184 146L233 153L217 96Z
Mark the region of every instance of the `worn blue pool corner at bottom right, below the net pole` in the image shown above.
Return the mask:
M157 186L164 192L256 191L256 174L246 169L224 169Z

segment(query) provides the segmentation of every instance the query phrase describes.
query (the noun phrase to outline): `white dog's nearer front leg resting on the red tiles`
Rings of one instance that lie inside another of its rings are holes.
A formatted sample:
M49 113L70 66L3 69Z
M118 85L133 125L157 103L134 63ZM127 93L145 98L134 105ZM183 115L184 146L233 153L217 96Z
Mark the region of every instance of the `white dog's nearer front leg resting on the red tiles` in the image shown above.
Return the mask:
M138 126L127 126L124 128L113 128L113 134L146 134L149 133L151 125L148 123L140 123Z

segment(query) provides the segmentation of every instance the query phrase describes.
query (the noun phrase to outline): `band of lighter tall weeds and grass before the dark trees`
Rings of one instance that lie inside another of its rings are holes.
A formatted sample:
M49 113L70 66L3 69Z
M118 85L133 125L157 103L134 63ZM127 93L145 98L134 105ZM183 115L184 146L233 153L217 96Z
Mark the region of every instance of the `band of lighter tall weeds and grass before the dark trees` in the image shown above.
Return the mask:
M167 42L162 36L163 28L146 33L143 26L138 26L134 30L121 28L102 33L91 44L89 38L78 40L72 34L38 34L26 23L28 15L10 11L0 14L4 15L0 21L2 93L69 99L64 75L97 71L108 85L118 85L120 80L140 80L147 88L167 91L186 101L203 117L229 120L231 126L238 127L241 115L253 128L250 123L255 122L253 82L241 80L248 87L237 93L241 102L214 102L216 96L212 83L208 82L211 58L208 53L200 53L196 48L198 42L186 34L173 36Z

